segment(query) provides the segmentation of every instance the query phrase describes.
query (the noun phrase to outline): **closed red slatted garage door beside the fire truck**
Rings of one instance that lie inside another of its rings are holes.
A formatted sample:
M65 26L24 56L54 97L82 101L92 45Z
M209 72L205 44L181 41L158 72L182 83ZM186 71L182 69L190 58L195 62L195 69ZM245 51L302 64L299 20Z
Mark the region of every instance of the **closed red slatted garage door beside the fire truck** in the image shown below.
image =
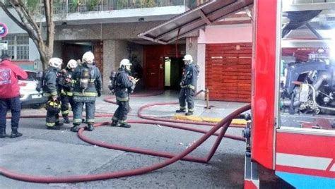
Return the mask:
M250 102L252 43L206 44L209 99Z

